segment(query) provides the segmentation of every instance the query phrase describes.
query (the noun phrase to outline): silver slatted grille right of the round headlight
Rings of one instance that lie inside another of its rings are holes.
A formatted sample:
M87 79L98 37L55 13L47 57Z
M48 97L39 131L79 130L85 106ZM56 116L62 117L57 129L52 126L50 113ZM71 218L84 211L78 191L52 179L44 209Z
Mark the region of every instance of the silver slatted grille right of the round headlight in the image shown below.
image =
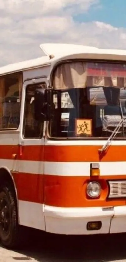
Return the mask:
M110 192L108 198L126 197L126 180L108 181Z

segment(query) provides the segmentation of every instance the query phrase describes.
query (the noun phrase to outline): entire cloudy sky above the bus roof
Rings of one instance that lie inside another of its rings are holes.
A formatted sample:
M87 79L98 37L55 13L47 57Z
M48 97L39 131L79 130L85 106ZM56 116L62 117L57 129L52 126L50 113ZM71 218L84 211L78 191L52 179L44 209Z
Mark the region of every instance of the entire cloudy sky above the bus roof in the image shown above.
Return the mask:
M126 0L0 0L0 66L41 57L41 43L126 49Z

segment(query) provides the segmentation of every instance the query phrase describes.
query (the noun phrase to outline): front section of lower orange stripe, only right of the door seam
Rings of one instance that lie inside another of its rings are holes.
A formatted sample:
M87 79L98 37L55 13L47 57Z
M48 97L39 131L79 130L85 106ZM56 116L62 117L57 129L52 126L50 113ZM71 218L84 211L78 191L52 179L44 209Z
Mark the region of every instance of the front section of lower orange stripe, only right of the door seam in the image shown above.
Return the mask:
M64 176L44 176L45 204L58 207L97 207L97 206L117 206L126 205L125 199L108 200L108 186L106 180L112 179L110 176L100 177L101 195L98 199L90 199L86 195L86 186L91 179L89 177L64 177ZM114 179L126 179L126 175L113 176ZM92 179L93 180L93 179ZM96 178L94 179L97 180Z

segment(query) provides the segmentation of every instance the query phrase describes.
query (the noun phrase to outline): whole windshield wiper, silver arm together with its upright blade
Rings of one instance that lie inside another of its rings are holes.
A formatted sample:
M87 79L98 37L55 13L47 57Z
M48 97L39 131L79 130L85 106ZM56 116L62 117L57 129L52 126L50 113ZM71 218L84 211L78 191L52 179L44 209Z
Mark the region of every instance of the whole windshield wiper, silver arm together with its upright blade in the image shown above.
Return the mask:
M98 151L100 153L102 153L103 151L105 151L108 148L108 146L111 144L111 141L114 139L114 137L118 133L120 127L123 125L123 122L126 120L126 117L123 116L122 105L121 105L120 99L119 99L119 105L120 105L120 109L121 109L121 118L122 119L120 120L120 122L118 123L116 128L113 130L113 132L112 132L111 136L108 138L106 144L101 149L98 149ZM124 136L124 126L123 126L123 136Z

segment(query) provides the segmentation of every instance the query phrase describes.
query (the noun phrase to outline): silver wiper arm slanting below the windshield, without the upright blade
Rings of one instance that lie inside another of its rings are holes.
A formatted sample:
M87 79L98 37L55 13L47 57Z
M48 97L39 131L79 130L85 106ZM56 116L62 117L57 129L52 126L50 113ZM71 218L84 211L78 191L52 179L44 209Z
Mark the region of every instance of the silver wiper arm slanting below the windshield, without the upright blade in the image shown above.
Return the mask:
M116 136L116 134L118 133L120 127L122 126L123 122L126 120L126 117L122 116L122 119L120 120L120 122L118 123L118 125L116 126L116 128L113 130L112 135L108 138L106 144L101 148L98 149L98 151L100 153L102 153L103 151L105 151L107 149L107 147L111 144L111 141L114 139L114 137Z

